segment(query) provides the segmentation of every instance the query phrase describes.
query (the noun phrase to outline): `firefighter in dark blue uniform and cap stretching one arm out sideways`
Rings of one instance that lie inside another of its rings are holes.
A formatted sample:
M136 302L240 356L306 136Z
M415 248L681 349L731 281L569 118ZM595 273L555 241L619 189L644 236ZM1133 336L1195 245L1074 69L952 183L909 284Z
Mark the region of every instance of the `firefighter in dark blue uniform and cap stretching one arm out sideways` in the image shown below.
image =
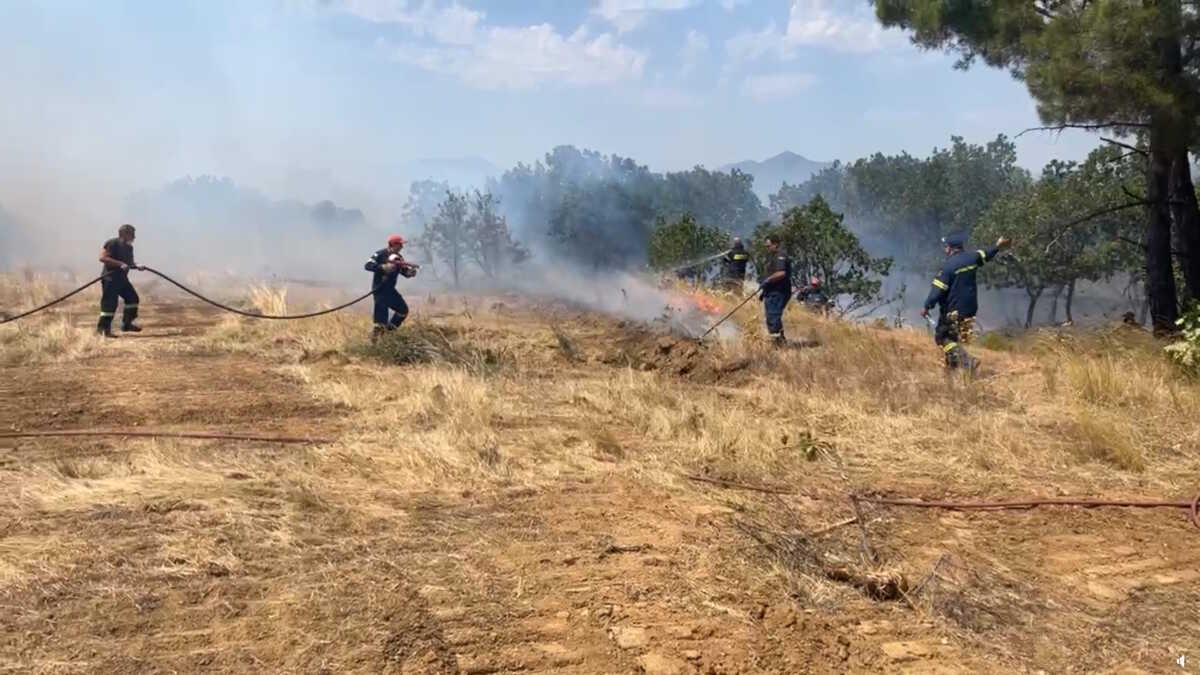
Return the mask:
M954 370L965 368L974 372L979 366L977 359L967 354L964 345L971 340L974 316L979 310L979 292L976 285L976 271L984 263L991 262L1007 249L1010 241L1003 237L995 246L978 251L966 251L967 238L964 234L950 234L942 238L946 250L946 263L942 271L934 277L934 285L925 298L920 316L928 317L929 310L937 305L937 327L934 329L934 341L946 353L946 368Z

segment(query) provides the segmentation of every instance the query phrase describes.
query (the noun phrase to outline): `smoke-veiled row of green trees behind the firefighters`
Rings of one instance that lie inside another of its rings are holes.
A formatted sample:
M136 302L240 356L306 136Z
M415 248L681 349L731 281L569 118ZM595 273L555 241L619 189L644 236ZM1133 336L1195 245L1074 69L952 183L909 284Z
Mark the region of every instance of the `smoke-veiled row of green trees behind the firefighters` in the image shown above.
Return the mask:
M1130 294L1145 293L1139 214L1126 208L1142 177L1141 159L1100 147L1082 162L1050 162L1034 178L1018 166L1015 144L1004 136L984 144L952 137L925 157L835 162L799 185L784 184L763 207L752 177L737 171L655 174L626 157L560 147L473 195L415 183L406 221L422 233L419 250L440 259L455 281L468 264L494 276L528 258L518 240L595 269L690 268L698 275L692 263L739 235L762 269L762 240L774 233L796 262L794 281L820 277L842 298L844 311L878 303L893 269L936 269L944 234L985 241L1003 233L1018 244L982 279L1022 289L1031 325L1045 300L1051 321L1060 299L1073 319L1081 281L1120 277Z

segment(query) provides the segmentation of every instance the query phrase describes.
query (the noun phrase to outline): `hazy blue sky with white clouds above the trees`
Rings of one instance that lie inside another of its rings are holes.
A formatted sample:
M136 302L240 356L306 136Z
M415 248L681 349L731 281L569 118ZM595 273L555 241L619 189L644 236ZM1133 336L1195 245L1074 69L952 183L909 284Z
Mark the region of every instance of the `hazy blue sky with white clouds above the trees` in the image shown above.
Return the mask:
M182 174L370 202L419 157L571 143L678 169L1037 125L1007 73L955 71L858 0L11 0L0 62L0 203L26 210ZM1021 163L1094 143L1028 135Z

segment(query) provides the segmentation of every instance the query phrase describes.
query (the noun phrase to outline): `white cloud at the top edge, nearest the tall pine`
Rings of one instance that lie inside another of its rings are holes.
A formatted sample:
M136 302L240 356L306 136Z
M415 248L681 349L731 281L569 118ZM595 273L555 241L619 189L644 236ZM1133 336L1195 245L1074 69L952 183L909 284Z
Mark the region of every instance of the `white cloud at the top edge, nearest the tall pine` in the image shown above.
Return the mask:
M780 30L774 22L761 31L744 31L726 42L730 55L738 60L756 60L774 53L784 60L796 58L804 47L836 52L869 53L904 44L904 34L884 29L869 6L854 8L833 0L792 0L787 25Z

